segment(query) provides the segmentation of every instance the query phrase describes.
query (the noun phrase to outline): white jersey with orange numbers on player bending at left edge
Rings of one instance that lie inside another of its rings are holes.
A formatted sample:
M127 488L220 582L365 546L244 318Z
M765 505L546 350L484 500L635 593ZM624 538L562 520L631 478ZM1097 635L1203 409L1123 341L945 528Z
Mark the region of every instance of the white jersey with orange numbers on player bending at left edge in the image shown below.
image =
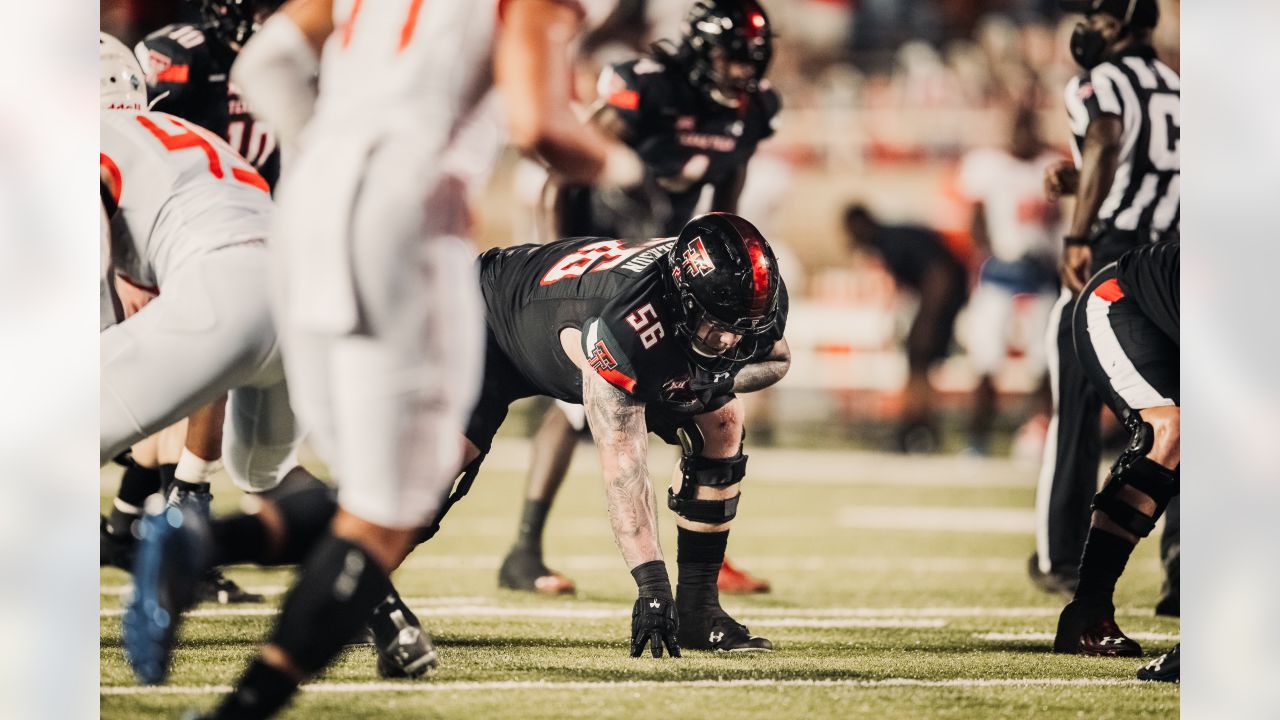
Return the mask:
M119 188L111 264L136 284L159 287L193 256L268 236L266 181L182 118L104 110L99 161Z

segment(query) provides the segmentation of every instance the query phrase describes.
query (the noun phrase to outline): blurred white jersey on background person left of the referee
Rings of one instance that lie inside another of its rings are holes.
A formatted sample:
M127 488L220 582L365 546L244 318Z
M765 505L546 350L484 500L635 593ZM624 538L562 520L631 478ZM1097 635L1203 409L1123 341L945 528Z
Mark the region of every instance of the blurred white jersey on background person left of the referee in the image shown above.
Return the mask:
M1020 160L993 147L964 156L960 192L982 202L991 254L997 260L1057 256L1060 218L1056 206L1044 199L1044 168L1059 160L1053 152Z

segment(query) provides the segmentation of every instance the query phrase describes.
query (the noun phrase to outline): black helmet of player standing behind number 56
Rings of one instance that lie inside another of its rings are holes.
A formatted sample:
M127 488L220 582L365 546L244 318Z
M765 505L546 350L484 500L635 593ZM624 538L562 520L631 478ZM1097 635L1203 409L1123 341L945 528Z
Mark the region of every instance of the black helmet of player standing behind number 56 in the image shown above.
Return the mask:
M713 56L755 68L750 78L735 81L721 76ZM684 37L676 58L684 63L689 81L722 105L736 106L723 87L739 94L759 90L764 70L773 58L773 26L756 0L696 0L685 17Z

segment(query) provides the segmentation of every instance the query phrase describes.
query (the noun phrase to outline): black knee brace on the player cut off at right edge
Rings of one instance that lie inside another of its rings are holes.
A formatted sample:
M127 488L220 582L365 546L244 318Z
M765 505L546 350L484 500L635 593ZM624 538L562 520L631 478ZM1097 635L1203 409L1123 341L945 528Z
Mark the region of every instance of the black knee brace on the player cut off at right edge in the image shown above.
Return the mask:
M1115 524L1139 538L1144 538L1151 534L1156 520L1178 495L1178 470L1170 470L1147 457L1155 442L1155 432L1149 424L1138 420L1130 427L1133 428L1133 439L1111 466L1107 484L1098 495L1093 496L1093 509L1106 512ZM1125 487L1132 487L1153 500L1156 511L1148 516L1125 501L1123 497Z

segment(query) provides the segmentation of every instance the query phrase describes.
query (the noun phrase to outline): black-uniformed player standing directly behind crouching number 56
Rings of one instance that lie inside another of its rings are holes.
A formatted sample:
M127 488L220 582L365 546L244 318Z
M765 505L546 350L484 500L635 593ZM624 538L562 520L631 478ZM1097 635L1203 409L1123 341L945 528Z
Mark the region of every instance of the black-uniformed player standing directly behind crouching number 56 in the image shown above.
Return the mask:
M640 199L618 202L617 193L561 187L557 237L675 236L707 186L713 188L712 210L736 213L748 161L773 135L781 106L764 79L772 54L772 26L759 3L698 0L678 44L659 42L644 58L605 68L591 123L640 154L657 184L649 192L657 191L669 211L654 223L650 204ZM543 561L541 536L576 441L571 420L550 409L534 437L525 506L499 585L552 594L573 591L571 580ZM726 561L719 588L768 592L769 584Z

